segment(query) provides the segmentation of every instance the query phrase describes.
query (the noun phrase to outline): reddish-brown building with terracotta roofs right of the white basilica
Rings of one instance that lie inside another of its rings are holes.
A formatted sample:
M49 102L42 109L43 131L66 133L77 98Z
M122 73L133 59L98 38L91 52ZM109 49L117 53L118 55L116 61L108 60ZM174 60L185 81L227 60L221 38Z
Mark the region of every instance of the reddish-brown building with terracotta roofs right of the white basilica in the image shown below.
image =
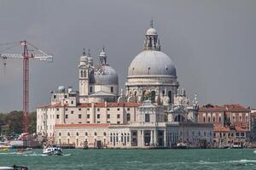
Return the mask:
M251 132L251 111L242 105L203 105L199 122L214 124L214 145L246 144Z

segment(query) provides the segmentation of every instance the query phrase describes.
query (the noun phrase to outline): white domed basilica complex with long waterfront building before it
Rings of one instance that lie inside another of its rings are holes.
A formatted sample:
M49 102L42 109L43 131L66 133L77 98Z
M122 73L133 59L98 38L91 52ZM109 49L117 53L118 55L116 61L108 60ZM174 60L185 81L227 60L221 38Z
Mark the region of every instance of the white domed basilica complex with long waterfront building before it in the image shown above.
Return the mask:
M37 133L49 143L77 148L208 147L213 124L198 122L197 95L179 88L172 59L161 51L153 21L143 51L131 61L125 90L102 48L79 59L79 91L60 86L37 109Z

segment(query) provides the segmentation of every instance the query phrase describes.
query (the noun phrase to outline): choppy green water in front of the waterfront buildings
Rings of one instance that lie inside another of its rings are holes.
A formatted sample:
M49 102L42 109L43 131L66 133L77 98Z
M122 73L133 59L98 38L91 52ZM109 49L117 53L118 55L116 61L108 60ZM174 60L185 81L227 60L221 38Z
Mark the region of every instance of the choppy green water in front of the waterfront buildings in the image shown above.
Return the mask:
M256 169L253 150L63 150L64 156L0 152L0 166L26 165L29 170L63 169Z

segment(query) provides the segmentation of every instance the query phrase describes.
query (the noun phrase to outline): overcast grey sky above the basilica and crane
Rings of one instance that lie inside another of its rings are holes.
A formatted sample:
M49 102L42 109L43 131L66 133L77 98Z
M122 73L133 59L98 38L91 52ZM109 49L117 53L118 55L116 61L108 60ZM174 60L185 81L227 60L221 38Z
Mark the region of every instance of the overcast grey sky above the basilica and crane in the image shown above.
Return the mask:
M256 108L255 8L253 0L0 0L0 44L27 40L54 54L53 63L30 61L29 111L35 111L60 85L78 90L83 48L97 63L104 46L125 88L153 19L161 51L190 99L197 93L201 105ZM0 112L14 110L22 110L22 60L9 59L5 74L0 60Z

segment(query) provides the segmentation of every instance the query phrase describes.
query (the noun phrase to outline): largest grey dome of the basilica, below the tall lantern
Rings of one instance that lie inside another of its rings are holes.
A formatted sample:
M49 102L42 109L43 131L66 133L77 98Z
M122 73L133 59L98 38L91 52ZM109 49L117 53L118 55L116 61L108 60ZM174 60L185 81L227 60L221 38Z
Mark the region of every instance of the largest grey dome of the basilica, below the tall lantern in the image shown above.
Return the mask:
M161 51L144 50L131 61L128 76L167 75L176 77L172 59Z

